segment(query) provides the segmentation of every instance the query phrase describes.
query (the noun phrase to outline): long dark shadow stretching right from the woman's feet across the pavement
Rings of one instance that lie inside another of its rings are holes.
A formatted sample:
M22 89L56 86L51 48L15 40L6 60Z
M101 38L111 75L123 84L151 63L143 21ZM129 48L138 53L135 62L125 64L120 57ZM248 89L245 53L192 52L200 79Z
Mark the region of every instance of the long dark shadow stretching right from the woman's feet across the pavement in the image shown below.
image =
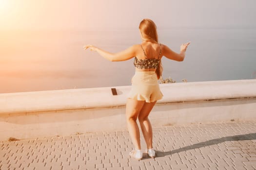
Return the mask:
M256 139L256 133L245 134L245 135L236 135L236 136L226 136L226 137L221 137L221 138L217 138L217 139L207 140L205 142L196 143L194 145L186 146L186 147L179 148L179 149L176 149L173 151L161 152L161 151L156 150L156 153L157 153L157 157L163 157L166 155L171 155L171 154L179 153L182 151L188 151L188 150L192 150L192 149L196 149L196 148L215 145L215 144L225 142L225 141L255 140L255 139Z

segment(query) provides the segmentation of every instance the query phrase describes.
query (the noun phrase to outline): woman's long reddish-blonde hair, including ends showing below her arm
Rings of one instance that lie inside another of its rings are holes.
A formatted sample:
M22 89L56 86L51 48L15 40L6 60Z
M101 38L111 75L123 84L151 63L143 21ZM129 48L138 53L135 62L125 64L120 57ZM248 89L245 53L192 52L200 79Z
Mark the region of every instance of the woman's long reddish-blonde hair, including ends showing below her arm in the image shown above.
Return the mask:
M139 24L139 30L142 34L143 40L158 43L157 26L151 19L143 19ZM158 79L162 76L163 66L160 60L159 66L156 70Z

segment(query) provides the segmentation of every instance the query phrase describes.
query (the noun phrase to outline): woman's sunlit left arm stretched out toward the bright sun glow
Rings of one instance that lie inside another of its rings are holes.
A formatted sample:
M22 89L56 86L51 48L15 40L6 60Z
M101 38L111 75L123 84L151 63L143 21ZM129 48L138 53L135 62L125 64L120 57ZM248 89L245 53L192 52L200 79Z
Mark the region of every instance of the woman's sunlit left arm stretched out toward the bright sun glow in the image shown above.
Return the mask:
M128 49L117 52L117 53L104 51L92 45L86 45L83 48L84 50L89 48L90 51L97 51L99 55L101 55L102 57L104 57L109 61L125 61L136 56L136 45L131 46Z

